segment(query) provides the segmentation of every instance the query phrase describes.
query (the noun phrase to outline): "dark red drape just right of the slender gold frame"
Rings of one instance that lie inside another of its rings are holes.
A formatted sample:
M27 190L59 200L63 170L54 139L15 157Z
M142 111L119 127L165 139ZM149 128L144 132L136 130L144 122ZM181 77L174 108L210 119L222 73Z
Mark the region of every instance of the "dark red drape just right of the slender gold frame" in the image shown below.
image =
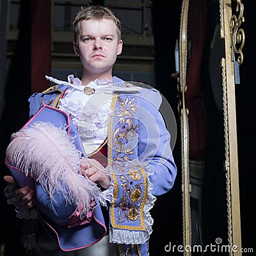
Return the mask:
M205 0L189 1L188 72L185 93L189 109L189 158L204 159L206 147L206 115L202 99L202 57L207 27Z

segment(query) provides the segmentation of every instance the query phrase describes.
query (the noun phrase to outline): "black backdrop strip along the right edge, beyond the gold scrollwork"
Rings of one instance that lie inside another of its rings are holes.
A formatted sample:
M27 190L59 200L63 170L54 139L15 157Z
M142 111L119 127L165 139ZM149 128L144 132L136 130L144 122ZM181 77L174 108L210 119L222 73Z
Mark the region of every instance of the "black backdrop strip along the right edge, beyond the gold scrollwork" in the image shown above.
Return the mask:
M255 202L256 167L255 167L255 10L256 2L243 0L245 42L244 62L240 69L240 84L236 85L237 145L240 188L240 212L242 247L253 248L255 252ZM244 253L245 255L246 253Z

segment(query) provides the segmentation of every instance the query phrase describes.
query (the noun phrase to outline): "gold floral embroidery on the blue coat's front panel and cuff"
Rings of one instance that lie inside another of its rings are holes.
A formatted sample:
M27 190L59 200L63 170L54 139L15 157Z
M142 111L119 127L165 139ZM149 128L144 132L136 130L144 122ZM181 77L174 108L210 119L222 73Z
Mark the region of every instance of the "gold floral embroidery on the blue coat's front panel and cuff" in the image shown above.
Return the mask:
M119 106L115 109L115 116L118 117L118 127L113 130L113 116L109 123L109 164L113 170L114 182L114 202L110 205L111 224L114 228L125 228L130 230L145 230L143 221L143 207L147 199L147 175L145 170L139 165L127 167L125 162L131 161L130 154L134 154L129 147L129 141L138 138L138 124L134 123L134 113L137 106L134 97L126 97L125 100L115 95L115 102L118 100ZM114 111L115 104L111 104ZM138 141L136 141L137 143ZM112 149L115 155L112 156ZM115 170L115 171L114 171ZM118 190L118 180L122 191ZM115 205L118 193L122 193L120 203L117 205L118 212L115 212ZM141 197L143 196L142 200ZM141 200L141 203L139 201ZM116 216L115 216L116 214ZM140 216L140 225L131 227L130 225L119 225L127 221L136 221ZM116 221L115 221L116 220Z

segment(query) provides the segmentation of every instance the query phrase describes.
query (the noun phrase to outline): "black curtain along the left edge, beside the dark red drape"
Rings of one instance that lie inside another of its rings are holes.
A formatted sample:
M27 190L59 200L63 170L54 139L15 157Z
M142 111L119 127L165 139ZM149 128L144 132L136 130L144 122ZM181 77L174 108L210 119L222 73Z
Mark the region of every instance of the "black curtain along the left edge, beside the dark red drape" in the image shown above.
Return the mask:
M4 175L10 175L4 164L10 136L28 120L28 97L31 95L31 1L20 1L19 35L13 49L4 92L4 111L1 118L1 243L4 255L26 255L20 242L23 221L15 216L13 205L6 203Z

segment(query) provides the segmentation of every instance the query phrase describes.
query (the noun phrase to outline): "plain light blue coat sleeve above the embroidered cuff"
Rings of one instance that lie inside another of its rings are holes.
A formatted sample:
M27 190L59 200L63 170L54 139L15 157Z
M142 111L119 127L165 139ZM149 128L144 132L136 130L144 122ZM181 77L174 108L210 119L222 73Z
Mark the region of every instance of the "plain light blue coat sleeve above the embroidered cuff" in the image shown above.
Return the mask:
M161 101L161 95L157 90L147 90L144 92L139 114L138 157L141 162L148 163L154 171L149 177L154 185L154 196L169 191L177 175L177 166L170 145L171 135L159 112Z

